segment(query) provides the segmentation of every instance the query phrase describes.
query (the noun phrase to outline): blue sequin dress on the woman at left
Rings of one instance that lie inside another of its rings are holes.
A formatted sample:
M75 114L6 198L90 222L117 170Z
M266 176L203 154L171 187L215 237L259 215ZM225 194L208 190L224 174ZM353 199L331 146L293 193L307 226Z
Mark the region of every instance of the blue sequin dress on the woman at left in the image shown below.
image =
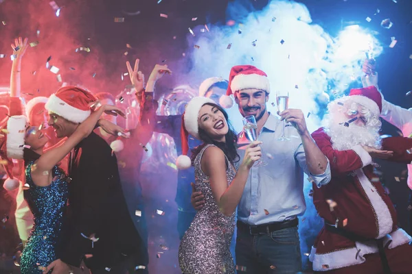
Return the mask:
M45 266L59 258L59 236L69 196L67 177L58 166L52 170L52 184L36 186L31 176L33 164L25 168L25 183L30 186L25 190L25 199L33 212L34 226L21 256L22 274L43 273Z

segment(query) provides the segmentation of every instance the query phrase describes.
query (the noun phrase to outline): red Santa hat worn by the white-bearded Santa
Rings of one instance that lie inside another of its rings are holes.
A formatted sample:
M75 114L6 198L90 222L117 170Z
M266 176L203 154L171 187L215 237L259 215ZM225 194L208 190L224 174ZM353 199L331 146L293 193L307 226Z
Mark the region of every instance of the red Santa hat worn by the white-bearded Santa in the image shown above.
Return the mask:
M382 112L382 96L375 86L353 88L349 92L350 99L368 108L376 116Z

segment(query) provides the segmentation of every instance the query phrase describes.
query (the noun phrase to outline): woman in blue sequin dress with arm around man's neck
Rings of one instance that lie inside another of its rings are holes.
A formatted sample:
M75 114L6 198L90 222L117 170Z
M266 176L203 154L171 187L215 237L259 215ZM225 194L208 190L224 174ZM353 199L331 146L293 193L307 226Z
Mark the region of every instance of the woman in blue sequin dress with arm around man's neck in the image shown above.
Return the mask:
M34 227L21 256L22 274L41 274L46 266L59 258L62 248L60 232L64 227L69 177L58 163L78 143L89 136L103 112L124 114L115 106L103 105L95 110L67 139L43 152L47 136L38 127L31 127L25 116L8 120L7 154L25 162L25 199L34 215ZM56 119L62 119L57 117ZM19 145L19 142L24 143Z

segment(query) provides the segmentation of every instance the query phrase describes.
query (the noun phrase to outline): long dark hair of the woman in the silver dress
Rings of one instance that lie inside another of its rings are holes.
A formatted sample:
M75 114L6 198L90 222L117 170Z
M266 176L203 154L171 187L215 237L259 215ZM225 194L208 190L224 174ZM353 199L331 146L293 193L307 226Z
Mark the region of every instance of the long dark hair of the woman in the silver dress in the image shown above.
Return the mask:
M225 142L218 142L210 138L207 132L205 132L205 130L199 127L199 138L201 138L203 144L192 149L192 162L194 162L194 159L196 158L198 153L201 152L203 147L209 144L216 145L216 147L222 149L227 159L229 159L229 162L238 162L240 160L238 151L236 151L236 148L238 147L238 136L236 135L236 132L233 130L231 124L229 123L229 117L227 116L227 112L220 105L216 105L216 103L205 103L205 105L211 105L212 107L217 108L223 113L227 121L227 125L229 126L229 131L225 135Z

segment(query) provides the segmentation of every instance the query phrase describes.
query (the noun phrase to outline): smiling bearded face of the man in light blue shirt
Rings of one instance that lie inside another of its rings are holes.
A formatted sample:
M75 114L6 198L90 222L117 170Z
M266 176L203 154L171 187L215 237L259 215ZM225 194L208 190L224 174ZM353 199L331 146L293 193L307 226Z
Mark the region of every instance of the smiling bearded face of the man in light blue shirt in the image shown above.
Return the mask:
M235 101L238 104L239 112L242 116L255 116L259 121L266 113L266 102L269 96L264 90L248 88L235 93Z

